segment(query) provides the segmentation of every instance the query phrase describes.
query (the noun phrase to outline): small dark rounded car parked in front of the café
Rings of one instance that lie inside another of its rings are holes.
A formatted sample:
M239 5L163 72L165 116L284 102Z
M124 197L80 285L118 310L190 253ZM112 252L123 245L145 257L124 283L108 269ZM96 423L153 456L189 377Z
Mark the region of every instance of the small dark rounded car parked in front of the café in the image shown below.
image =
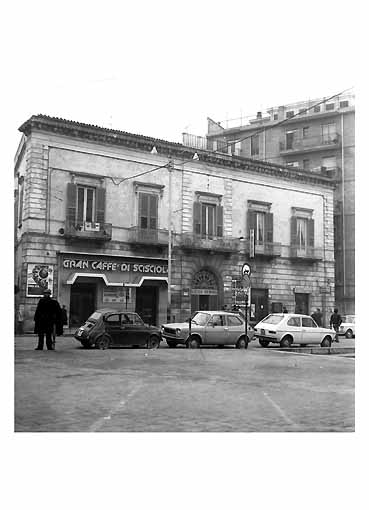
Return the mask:
M137 313L117 310L96 310L74 334L83 347L109 349L109 347L144 346L160 347L159 328L149 326Z

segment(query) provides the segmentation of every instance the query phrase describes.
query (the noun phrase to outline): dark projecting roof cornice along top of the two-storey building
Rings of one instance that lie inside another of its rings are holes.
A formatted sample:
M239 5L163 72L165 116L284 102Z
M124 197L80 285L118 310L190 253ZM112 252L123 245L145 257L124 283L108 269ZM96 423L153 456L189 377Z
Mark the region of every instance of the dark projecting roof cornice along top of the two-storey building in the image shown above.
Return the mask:
M193 160L194 154L197 153L199 160L196 161L196 164L204 162L218 167L232 168L241 171L247 170L257 174L270 175L295 182L325 185L331 188L335 187L334 181L329 177L307 174L306 172L282 165L275 165L273 163L241 156L229 156L227 154L219 154L206 150L190 149L176 142L168 142L158 138L151 138L57 117L48 117L47 115L33 115L19 127L19 131L27 136L30 135L33 130L46 131L73 138L82 138L97 143L124 146L148 153L150 153L153 146L155 146L159 155L170 158L176 157L182 160L176 163L177 165L180 165L182 162L190 162Z

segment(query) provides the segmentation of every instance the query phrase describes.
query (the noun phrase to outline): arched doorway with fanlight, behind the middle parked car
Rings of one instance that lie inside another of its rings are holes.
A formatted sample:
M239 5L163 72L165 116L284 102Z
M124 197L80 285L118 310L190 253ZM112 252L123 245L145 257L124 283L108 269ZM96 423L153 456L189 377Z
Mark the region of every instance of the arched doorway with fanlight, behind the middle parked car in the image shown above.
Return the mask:
M218 279L208 269L201 269L192 279L191 313L197 310L218 310L218 308Z

